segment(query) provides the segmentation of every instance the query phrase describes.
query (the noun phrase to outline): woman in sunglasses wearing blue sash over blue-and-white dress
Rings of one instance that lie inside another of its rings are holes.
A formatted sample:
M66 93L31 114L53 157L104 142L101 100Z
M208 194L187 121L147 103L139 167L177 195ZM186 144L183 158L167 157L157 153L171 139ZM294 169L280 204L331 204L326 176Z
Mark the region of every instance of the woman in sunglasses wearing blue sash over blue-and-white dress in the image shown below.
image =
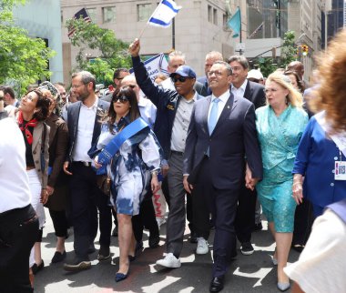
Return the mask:
M130 136L128 129L137 122L141 127L136 128L133 132L135 134ZM113 94L112 105L101 126L97 151L89 152L91 157L97 155L97 168L106 167L99 164L102 150L121 137L119 134L127 138L107 164L107 174L111 179L110 202L117 211L118 222L120 258L117 282L127 278L130 258L135 256L136 241L131 217L138 214L148 187L151 187L153 193L158 191L158 172L162 157L158 140L148 124L140 118L137 96L129 86L124 86Z

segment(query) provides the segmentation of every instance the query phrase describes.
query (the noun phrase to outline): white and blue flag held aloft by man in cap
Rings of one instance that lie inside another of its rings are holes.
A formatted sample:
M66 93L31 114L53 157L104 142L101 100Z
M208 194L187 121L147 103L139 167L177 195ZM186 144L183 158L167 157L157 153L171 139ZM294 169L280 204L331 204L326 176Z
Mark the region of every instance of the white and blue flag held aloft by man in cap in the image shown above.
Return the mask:
M148 20L149 25L168 27L172 19L178 14L181 6L178 6L173 0L161 0L157 9Z

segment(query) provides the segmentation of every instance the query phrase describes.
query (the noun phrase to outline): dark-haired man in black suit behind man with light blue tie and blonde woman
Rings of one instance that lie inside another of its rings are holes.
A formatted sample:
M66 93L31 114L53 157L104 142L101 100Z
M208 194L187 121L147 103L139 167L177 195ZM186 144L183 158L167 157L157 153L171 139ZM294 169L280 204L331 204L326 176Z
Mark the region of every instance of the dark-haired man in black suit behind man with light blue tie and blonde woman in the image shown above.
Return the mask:
M247 80L249 70L247 58L245 56L230 56L229 65L233 72L230 86L232 94L238 98L248 99L253 103L255 109L265 106L264 86ZM255 225L256 198L256 189L251 190L242 187L235 226L237 237L241 243L240 251L245 256L249 256L254 252L251 244L251 232ZM233 254L236 254L236 252L233 251Z

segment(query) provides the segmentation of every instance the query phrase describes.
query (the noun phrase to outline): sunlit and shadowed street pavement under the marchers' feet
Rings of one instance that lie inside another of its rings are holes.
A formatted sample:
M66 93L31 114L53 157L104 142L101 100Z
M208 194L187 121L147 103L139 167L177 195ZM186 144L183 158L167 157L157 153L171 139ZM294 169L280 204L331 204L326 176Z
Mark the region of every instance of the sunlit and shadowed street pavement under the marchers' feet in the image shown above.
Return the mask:
M181 268L168 269L155 265L165 252L166 224L161 226L159 248L148 248L148 231L144 235L144 250L131 263L129 277L119 283L115 282L118 265L117 237L112 237L111 252L115 264L111 260L99 262L97 252L90 255L92 268L79 273L64 271L63 263L51 264L54 255L56 237L49 213L46 211L46 227L42 243L43 259L46 267L35 278L36 293L109 293L109 292L209 292L211 279L212 239L209 237L209 254L198 256L194 253L196 244L188 242L189 231L185 231L184 248L181 255ZM222 292L279 292L276 288L276 269L271 264L270 256L274 251L274 243L263 221L264 229L252 235L255 252L251 256L241 255L234 260L226 276L225 288ZM97 238L98 239L98 238ZM99 248L98 242L96 247ZM66 240L67 260L74 258L73 231ZM290 251L290 262L294 262L299 254Z

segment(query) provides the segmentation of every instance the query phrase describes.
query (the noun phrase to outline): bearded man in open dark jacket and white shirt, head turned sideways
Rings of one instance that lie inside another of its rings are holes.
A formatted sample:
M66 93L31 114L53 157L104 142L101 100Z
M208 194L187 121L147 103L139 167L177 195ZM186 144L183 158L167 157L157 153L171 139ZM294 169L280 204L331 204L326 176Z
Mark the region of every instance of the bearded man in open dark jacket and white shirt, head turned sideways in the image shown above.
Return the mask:
M64 171L71 176L71 214L74 226L74 248L76 259L64 268L79 271L91 268L88 253L94 252L94 239L97 236L97 207L99 210L100 249L98 260L110 258L110 232L112 216L108 207L108 197L97 187L97 176L91 167L88 150L97 142L100 135L101 116L109 108L109 103L100 100L95 94L96 79L87 71L72 75L72 89L78 102L67 109L69 147Z

